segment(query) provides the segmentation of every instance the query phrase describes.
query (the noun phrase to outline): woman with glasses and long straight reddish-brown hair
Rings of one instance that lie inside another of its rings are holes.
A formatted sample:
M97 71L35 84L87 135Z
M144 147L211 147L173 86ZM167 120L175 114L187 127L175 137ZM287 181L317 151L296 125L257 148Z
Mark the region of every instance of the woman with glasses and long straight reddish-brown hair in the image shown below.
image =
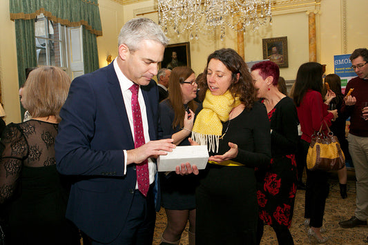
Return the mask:
M168 99L159 104L160 132L164 138L173 138L177 146L189 146L197 103L197 83L191 68L178 66L168 81ZM180 237L189 221L189 244L195 244L195 175L160 173L162 206L167 216L167 226L162 234L162 244L180 244Z

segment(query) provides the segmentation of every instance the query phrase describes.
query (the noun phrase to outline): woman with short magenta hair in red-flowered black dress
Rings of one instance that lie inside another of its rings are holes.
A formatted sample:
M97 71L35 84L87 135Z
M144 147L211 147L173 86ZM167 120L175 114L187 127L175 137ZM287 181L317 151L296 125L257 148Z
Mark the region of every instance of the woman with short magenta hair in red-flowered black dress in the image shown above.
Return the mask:
M273 228L278 244L294 244L289 228L296 197L298 113L293 100L278 90L278 65L263 61L252 66L251 71L271 122L271 164L267 170L258 171L258 244L264 224Z

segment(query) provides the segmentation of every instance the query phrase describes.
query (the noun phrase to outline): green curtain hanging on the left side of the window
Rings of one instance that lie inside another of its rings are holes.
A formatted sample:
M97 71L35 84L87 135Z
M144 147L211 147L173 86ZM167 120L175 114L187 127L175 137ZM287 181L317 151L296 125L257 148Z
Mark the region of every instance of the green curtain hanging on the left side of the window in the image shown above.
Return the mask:
M15 37L17 40L18 82L19 88L21 88L26 81L26 68L37 66L35 20L16 19ZM25 111L21 106L22 118Z

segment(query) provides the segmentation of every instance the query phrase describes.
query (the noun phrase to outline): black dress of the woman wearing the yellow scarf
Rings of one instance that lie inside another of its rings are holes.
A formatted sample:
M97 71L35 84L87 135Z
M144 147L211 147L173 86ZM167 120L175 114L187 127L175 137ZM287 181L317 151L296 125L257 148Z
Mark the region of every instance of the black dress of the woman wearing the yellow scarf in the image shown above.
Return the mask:
M228 127L229 126L229 127ZM227 131L226 131L227 130ZM258 219L254 168L264 168L271 158L270 124L267 110L255 102L251 110L226 121L219 152L238 145L242 166L207 164L196 191L195 244L255 244ZM213 153L210 153L214 155Z

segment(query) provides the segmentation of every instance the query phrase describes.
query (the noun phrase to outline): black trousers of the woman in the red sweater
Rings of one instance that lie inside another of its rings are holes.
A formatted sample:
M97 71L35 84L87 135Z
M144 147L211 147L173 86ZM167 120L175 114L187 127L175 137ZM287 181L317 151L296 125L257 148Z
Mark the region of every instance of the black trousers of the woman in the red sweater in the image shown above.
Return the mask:
M307 160L309 143L302 140L304 161ZM305 191L304 217L311 219L310 226L322 226L326 198L329 193L329 173L320 170L307 170L307 190Z

